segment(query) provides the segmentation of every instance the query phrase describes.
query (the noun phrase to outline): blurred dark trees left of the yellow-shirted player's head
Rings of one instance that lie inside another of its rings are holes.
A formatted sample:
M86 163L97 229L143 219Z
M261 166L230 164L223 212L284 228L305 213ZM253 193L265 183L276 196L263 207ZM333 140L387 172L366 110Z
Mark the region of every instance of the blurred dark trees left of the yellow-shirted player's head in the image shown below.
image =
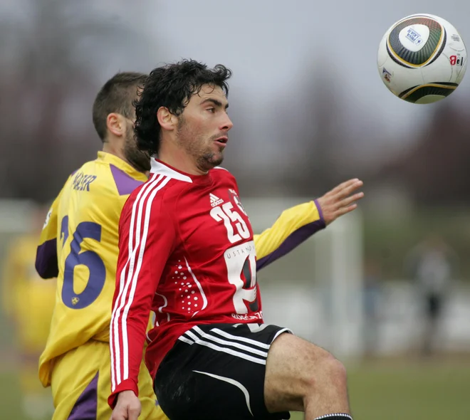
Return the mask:
M114 16L84 13L84 6L30 1L21 17L0 18L2 197L50 202L101 147L91 123L102 84L96 67L140 40ZM93 10L93 3L88 6Z

